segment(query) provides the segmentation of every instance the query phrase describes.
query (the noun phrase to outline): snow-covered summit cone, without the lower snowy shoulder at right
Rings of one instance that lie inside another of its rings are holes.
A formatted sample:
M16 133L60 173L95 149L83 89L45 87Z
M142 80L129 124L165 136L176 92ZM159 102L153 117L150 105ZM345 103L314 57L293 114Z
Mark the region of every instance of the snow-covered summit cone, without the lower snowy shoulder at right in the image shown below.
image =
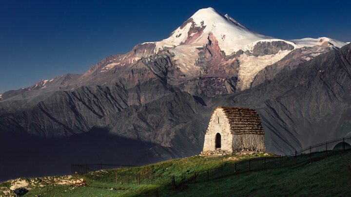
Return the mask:
M215 37L220 50L226 55L240 49L248 50L248 44L255 41L272 38L249 31L229 15L223 16L213 8L205 8L195 12L170 37L155 42L155 52L174 49L179 45L187 45L190 48L202 47L207 44L210 34Z

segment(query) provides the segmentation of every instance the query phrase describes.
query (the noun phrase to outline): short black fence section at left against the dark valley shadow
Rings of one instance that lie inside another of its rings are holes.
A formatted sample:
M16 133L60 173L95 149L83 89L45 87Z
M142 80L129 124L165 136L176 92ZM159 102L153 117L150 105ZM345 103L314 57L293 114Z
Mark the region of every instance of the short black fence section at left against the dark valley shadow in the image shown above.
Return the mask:
M135 165L122 165L122 164L72 164L72 174L85 174L88 172L94 172L98 170L109 170L116 168L125 168L125 167L137 167Z

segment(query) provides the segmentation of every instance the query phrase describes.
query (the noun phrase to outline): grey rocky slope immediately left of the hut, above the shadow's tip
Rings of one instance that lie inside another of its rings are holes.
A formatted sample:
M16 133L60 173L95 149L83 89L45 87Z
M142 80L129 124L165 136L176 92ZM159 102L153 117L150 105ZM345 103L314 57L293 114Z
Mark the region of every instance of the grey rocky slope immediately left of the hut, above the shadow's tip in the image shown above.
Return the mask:
M143 107L129 107L101 119L97 127L111 134L172 147L179 157L199 151L209 113L205 103L188 93L172 93ZM194 120L194 121L189 121ZM196 132L194 132L196 130ZM197 148L195 148L197 147Z

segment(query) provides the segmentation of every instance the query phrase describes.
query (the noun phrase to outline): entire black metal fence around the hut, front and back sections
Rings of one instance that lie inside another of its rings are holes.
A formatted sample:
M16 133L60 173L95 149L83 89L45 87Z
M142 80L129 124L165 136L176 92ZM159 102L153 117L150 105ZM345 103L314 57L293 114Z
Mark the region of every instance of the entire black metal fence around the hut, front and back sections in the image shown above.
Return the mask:
M223 178L230 175L236 175L243 172L308 163L320 160L321 158L329 157L340 152L349 151L351 150L350 144L351 136L327 141L324 143L318 143L299 151L286 154L284 156L262 157L244 161L225 162L215 168L209 168L207 170L196 171L193 173L182 173L181 176L118 174L112 172L109 173L108 176L98 176L94 174L89 174L89 176L92 176L92 179L103 179L103 181L107 182L114 181L119 184L161 184L176 186L185 182L203 182ZM72 164L72 172L82 174L100 169L113 169L119 167L135 166L118 164Z

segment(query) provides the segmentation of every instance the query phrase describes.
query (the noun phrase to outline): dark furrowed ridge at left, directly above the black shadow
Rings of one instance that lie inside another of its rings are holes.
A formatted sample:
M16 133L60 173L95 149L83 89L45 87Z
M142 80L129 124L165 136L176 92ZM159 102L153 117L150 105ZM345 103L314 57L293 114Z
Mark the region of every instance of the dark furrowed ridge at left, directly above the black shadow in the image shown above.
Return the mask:
M171 91L158 79L128 90L115 84L112 87L59 91L30 109L1 116L0 130L43 137L67 137L89 131L106 115L129 105L148 103L168 93Z

